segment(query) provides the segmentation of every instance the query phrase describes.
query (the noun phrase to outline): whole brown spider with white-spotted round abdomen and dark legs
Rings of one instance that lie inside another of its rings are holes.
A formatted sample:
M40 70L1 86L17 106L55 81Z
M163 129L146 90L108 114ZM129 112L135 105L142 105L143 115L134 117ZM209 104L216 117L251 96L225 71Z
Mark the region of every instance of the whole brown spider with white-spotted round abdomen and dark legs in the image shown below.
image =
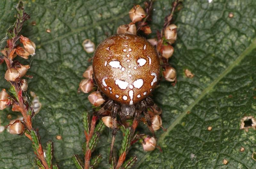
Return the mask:
M149 95L159 79L160 63L155 48L145 39L132 34L111 36L97 47L93 61L93 79L107 98L97 116L106 110L112 117L110 158L117 134L117 115L121 119L139 118L143 114L149 130L148 107L161 111Z

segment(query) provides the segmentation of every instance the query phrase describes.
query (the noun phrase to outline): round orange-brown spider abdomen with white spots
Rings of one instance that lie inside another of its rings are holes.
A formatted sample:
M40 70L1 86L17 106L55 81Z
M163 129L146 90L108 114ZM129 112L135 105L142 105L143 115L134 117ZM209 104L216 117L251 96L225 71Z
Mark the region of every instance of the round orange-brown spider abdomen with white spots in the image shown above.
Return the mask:
M102 92L122 104L146 98L156 87L160 64L154 47L131 34L111 36L95 51L93 74Z

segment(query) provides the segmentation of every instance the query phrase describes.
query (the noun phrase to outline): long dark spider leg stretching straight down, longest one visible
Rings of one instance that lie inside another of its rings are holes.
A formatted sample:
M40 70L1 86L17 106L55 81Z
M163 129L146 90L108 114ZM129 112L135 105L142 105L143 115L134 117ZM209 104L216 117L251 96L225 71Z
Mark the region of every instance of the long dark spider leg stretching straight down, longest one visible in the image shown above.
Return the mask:
M117 133L117 122L116 122L116 116L117 112L119 111L119 105L116 103L113 103L112 110L111 110L111 116L112 116L112 141L110 144L110 153L109 153L109 164L111 163L111 158L113 156L113 148L115 144L116 139L116 133Z

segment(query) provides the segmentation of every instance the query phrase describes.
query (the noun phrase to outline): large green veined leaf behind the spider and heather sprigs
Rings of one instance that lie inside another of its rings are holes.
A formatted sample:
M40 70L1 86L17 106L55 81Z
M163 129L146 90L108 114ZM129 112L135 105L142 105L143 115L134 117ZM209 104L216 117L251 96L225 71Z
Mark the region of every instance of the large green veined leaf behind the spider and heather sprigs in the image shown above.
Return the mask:
M80 154L84 142L82 112L91 110L86 94L77 94L85 68L91 63L82 47L84 39L99 44L114 34L118 25L129 23L128 11L143 1L77 0L26 1L31 15L23 34L36 45L36 56L29 60L29 91L34 91L43 107L34 119L43 145L53 140L55 161L61 168L75 168L72 154ZM163 126L158 144L163 153L143 152L141 145L132 147L137 168L255 168L252 159L255 130L240 130L240 120L256 113L256 39L254 0L185 0L175 17L178 40L170 63L177 69L178 83L161 82L154 100L163 109ZM0 1L0 38L12 25L18 1ZM154 3L152 22L154 37L169 14L172 1ZM229 13L234 17L229 18ZM32 21L36 25L31 24ZM46 29L51 29L50 33ZM3 47L4 44L0 44ZM195 76L187 78L184 70ZM0 66L1 88L8 88L3 65ZM188 112L190 112L188 114ZM7 124L10 109L1 111L1 125ZM212 126L212 130L207 130ZM141 132L148 131L140 128ZM101 136L96 153L102 153L102 168L108 168L109 130ZM120 133L119 133L120 134ZM57 140L56 135L62 139ZM119 135L121 138L121 136ZM116 145L120 146L120 140ZM245 149L240 152L240 147ZM25 136L0 133L0 166L3 168L35 167L31 144ZM228 164L222 163L223 159Z

